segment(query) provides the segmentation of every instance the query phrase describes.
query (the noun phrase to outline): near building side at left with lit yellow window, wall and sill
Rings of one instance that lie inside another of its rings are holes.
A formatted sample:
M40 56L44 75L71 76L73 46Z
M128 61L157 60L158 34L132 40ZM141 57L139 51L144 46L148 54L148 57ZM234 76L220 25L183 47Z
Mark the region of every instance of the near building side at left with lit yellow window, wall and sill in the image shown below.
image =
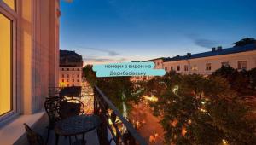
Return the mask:
M59 0L0 0L0 144L24 135L58 86Z

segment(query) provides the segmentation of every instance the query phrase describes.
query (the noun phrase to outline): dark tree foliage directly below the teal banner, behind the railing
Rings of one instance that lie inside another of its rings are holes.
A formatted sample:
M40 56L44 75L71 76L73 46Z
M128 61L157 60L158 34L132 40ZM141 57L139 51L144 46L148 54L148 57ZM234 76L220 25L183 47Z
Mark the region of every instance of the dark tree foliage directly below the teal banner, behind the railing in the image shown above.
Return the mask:
M129 111L131 102L139 102L143 94L140 88L131 83L130 77L96 78L92 66L85 66L83 74L90 85L97 85L120 111L123 109L122 102L125 102Z

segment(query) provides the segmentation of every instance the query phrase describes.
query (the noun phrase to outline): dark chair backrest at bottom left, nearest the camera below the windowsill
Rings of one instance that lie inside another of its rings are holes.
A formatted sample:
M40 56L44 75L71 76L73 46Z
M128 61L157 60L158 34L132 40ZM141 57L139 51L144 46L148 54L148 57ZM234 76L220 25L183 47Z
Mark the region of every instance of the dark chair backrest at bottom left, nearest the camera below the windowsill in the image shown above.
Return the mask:
M32 131L32 129L25 125L26 130L26 138L30 145L44 145L44 139L42 136L40 136L37 132Z

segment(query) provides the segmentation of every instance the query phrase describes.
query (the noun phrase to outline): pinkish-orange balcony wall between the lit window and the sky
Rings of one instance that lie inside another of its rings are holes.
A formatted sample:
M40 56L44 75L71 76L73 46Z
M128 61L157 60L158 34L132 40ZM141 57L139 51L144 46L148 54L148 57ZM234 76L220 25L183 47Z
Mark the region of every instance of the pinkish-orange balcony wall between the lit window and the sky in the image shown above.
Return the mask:
M59 0L16 0L16 10L1 1L0 13L12 14L13 111L31 114L44 107L49 86L57 86L59 52ZM57 71L56 71L57 70ZM9 96L6 96L9 97ZM2 116L0 117L1 124Z

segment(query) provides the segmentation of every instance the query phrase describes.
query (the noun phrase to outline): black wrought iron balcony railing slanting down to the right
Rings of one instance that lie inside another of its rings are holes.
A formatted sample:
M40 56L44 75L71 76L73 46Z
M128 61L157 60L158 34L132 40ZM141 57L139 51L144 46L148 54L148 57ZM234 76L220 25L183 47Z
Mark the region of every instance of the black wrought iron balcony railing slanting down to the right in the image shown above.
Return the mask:
M97 86L94 87L94 113L102 119L98 130L100 144L108 145L111 142L116 145L147 144Z

